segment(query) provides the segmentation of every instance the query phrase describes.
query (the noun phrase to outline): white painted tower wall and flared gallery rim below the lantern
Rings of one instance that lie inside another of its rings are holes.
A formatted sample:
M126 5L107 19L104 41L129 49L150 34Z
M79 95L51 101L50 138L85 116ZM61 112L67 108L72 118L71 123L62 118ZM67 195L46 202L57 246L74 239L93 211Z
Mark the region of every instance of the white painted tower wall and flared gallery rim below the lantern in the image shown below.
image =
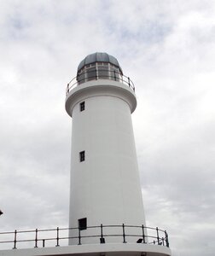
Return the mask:
M80 112L79 102L83 101L85 110ZM66 109L73 116L70 227L78 227L78 218L87 218L90 226L145 224L131 123L136 105L134 92L111 80L78 85L67 96ZM85 161L79 162L83 150ZM90 229L81 232L82 236L94 234ZM122 234L122 229L104 232ZM141 230L130 232L142 234ZM70 236L77 235L70 232ZM137 241L137 237L130 240ZM111 241L122 241L122 237L106 238ZM84 239L84 243L91 242L95 240ZM70 243L77 244L77 240Z

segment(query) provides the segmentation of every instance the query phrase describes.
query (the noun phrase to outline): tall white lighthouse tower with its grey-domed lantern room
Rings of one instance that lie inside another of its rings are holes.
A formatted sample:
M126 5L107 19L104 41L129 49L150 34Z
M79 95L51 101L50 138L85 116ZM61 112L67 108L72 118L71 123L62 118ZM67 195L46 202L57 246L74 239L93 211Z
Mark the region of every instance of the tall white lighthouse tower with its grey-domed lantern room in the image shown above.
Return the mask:
M73 119L69 245L77 238L84 245L148 244L131 122L136 107L135 86L115 57L96 52L79 63L66 97ZM156 242L153 255L170 255L168 244Z

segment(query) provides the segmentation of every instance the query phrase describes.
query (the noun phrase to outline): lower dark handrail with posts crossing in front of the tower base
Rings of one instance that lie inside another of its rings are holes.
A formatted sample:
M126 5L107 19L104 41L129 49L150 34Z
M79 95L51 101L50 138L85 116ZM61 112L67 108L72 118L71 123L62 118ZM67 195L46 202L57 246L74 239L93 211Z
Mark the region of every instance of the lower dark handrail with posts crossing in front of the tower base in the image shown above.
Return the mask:
M106 230L108 228L108 231ZM119 228L119 230L112 230L115 228ZM134 233L134 230L130 230L130 228L135 228L136 233ZM166 230L160 230L158 227L152 228L152 227L147 227L144 225L103 225L100 224L98 226L87 226L86 230L90 229L92 232L88 231L88 234L83 234L84 230L81 230L79 228L59 228L57 227L56 229L47 229L47 230L15 230L13 232L0 232L0 250L2 244L12 244L13 249L17 248L17 243L21 242L32 242L34 247L38 247L39 242L43 242L43 247L45 247L45 241L55 241L55 246L58 247L60 246L60 241L73 241L75 244L75 241L78 241L78 245L83 244L83 239L84 238L98 238L98 241L96 243L105 243L105 238L108 237L121 237L122 239L120 240L123 243L129 243L129 242L134 242L133 240L131 241L131 237L137 237L137 243L142 243L142 244L155 244L155 245L160 245L160 246L165 246L169 247L169 239ZM96 229L96 232L95 232ZM65 230L77 230L77 235L75 236L63 236L61 231ZM153 230L154 233L148 235L148 230ZM49 232L51 231L51 234ZM48 232L48 235L50 236L45 236L44 233ZM32 233L32 238L29 238L29 233ZM21 234L26 234L28 236L26 239L21 238ZM142 234L142 235L140 235ZM9 240L2 240L3 236L8 237ZM119 239L117 242L120 242ZM95 242L95 241L94 241ZM113 241L112 241L113 242ZM84 243L86 244L86 243Z

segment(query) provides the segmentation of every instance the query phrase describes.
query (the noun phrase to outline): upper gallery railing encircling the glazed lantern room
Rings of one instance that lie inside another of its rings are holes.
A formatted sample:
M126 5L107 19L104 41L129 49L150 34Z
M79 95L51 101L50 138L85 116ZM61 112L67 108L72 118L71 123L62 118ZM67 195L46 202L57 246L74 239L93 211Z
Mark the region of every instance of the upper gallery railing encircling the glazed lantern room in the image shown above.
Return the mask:
M133 91L135 91L135 86L129 77L126 77L122 73L119 73L118 71L115 71L115 70L109 71L107 69L95 68L92 71L86 70L82 73L78 73L78 75L67 84L66 96L77 85L84 84L85 82L88 82L91 80L98 80L98 79L109 79L113 81L118 81L130 87Z

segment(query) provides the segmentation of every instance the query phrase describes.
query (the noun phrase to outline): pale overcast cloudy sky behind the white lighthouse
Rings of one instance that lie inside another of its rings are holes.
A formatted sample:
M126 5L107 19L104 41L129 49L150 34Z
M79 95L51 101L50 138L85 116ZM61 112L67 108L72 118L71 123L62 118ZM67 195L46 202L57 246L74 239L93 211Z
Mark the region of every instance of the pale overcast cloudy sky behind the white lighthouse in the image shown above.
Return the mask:
M173 256L215 252L215 2L0 0L1 231L68 226L80 61L116 57L136 86L132 114L148 226Z

